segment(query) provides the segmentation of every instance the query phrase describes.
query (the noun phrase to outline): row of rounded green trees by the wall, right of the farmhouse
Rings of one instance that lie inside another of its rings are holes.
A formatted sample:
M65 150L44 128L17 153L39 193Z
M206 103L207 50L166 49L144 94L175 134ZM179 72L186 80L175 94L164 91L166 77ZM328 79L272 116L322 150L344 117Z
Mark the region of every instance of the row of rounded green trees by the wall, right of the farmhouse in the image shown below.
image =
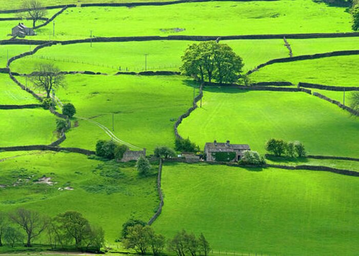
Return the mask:
M288 157L306 156L305 147L300 141L286 142L282 139L270 139L265 147L266 151L278 157L284 154Z

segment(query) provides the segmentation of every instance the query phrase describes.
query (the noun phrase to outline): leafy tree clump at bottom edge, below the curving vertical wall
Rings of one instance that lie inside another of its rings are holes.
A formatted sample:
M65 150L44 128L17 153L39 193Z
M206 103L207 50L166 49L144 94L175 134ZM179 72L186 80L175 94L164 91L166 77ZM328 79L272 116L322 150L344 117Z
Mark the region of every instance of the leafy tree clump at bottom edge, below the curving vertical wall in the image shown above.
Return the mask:
M182 230L166 241L162 234L155 233L145 222L134 219L130 219L123 225L122 238L126 248L134 249L141 254L151 251L153 255L158 255L167 248L178 256L186 254L195 256L197 254L207 255L211 250L202 233L197 239L193 233L189 234Z

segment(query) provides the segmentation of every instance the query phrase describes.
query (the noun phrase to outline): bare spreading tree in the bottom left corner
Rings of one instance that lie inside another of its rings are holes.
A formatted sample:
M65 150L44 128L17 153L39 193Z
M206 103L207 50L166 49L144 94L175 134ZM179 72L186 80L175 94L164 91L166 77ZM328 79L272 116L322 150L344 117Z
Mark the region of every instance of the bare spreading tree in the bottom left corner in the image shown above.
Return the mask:
M27 247L31 247L31 240L39 236L46 226L47 220L39 212L19 208L10 213L10 219L21 226L27 234Z

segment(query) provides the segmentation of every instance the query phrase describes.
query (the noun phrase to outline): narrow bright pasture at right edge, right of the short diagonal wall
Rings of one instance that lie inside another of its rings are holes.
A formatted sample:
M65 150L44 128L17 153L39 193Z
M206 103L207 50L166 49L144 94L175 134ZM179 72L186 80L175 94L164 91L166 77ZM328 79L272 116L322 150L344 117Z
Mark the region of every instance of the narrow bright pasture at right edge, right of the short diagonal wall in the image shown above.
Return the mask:
M288 39L293 55L358 50L359 37Z

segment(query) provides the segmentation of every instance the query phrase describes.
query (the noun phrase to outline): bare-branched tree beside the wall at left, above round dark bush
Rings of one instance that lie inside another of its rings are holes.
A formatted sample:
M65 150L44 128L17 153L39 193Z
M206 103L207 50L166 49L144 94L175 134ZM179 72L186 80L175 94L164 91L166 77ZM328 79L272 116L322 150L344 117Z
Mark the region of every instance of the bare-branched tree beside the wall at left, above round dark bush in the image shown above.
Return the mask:
M41 63L35 68L30 77L34 86L46 92L46 98L50 98L52 89L65 87L65 76L52 63Z

